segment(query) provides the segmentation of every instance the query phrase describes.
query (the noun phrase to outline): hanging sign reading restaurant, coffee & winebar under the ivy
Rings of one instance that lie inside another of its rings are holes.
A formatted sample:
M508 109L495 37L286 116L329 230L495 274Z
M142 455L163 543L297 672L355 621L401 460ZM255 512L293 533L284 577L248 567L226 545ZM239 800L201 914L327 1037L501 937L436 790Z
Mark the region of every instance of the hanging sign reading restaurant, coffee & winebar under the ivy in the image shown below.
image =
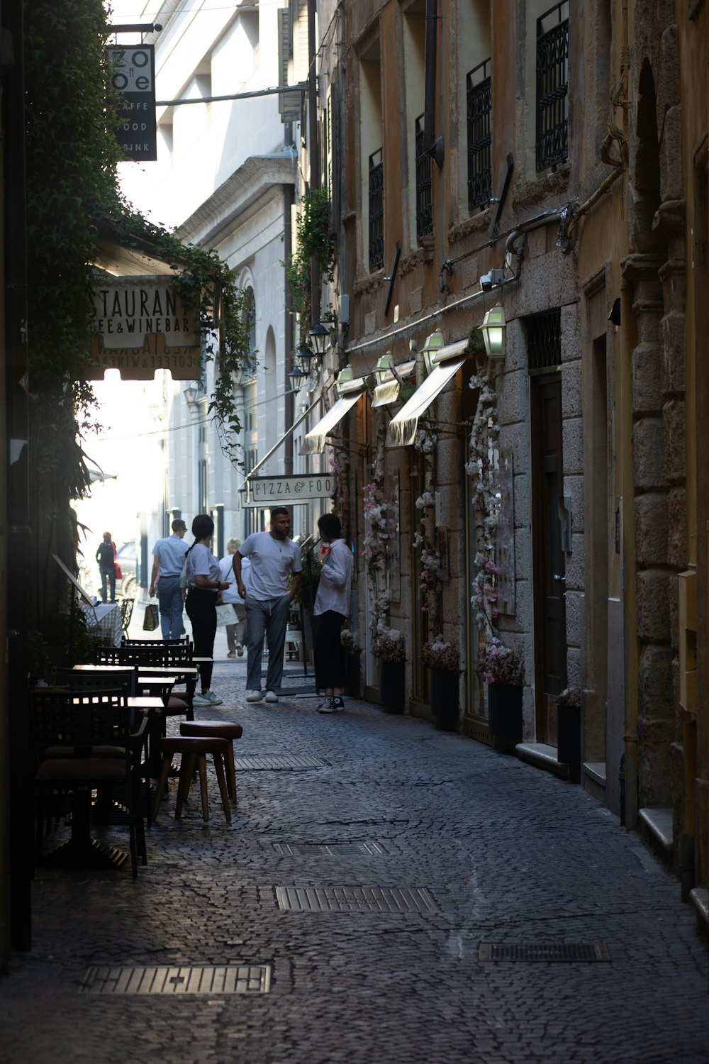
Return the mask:
M200 330L170 277L109 278L94 288L96 335L89 380L106 369L123 380L152 380L169 369L174 380L200 377Z

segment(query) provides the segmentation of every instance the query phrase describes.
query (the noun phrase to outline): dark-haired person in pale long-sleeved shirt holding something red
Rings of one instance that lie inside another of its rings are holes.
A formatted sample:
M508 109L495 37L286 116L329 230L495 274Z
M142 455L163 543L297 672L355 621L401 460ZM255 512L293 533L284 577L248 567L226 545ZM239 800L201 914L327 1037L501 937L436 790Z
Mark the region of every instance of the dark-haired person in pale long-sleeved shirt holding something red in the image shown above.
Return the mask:
M344 709L344 650L340 632L350 613L352 589L352 551L342 538L340 519L336 514L323 514L318 519L320 538L324 543L322 571L313 608L318 618L315 636L316 686L324 692L320 713L336 713Z

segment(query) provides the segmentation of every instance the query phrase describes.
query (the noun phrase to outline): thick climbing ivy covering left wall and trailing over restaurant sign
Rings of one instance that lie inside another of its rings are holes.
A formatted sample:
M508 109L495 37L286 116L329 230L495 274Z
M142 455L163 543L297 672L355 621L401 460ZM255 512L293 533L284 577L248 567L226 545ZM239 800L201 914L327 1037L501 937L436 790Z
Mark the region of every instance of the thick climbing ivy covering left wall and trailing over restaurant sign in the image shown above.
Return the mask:
M85 376L101 230L172 266L183 304L199 316L205 360L216 363L209 411L230 456L240 429L233 373L253 360L229 266L151 225L120 195L109 35L102 0L24 5L30 455L49 518L86 489L81 439L99 428Z

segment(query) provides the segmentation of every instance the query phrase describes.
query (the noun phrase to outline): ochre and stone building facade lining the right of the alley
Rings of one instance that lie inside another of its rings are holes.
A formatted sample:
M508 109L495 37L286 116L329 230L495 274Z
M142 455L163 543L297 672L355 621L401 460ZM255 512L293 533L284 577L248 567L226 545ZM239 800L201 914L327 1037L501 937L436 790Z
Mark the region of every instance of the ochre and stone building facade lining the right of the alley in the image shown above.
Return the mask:
M337 26L322 33L318 74L338 164L336 269L322 303L340 312L320 385L335 400L345 366L361 383L327 440L332 454L349 448L338 461L357 554L371 533L362 485L381 477L378 501L395 510L379 591L386 624L404 637L407 709L433 719L422 656L438 630L422 611L433 580L423 528L438 551L436 624L460 660L458 727L491 741L467 469L480 360L472 340L462 348L501 304L506 352L490 410L508 475L501 496L511 486L503 576L513 594L493 627L525 664L517 753L577 775L640 825L700 900L706 4L359 0L318 14L321 32ZM413 383L424 395L434 343L463 361L417 422L435 438L432 460L402 446L391 422ZM401 370L398 397L372 405L387 355ZM360 559L365 651L379 617L367 569ZM365 658L376 695L378 663ZM581 701L577 772L558 758L569 688Z

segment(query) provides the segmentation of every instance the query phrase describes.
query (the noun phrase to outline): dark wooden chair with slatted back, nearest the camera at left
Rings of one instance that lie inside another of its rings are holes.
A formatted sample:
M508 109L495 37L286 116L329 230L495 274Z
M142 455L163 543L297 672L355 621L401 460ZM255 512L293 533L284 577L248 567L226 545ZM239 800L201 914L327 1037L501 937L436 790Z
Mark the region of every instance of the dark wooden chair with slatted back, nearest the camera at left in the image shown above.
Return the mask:
M124 785L133 876L138 855L147 863L140 798L140 758L145 719L131 731L125 687L69 691L47 688L31 695L38 792L37 837L41 853L44 799L48 791L73 795L71 839L57 863L71 867L111 864L90 838L90 794L96 787ZM101 753L98 751L101 749ZM115 863L115 862L114 862Z

